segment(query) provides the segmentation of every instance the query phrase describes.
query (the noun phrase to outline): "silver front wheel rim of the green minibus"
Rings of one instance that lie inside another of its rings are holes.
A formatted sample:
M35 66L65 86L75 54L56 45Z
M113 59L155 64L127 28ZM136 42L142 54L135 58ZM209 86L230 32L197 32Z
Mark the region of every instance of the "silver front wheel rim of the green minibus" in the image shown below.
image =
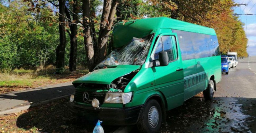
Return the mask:
M152 106L147 115L148 123L151 128L156 128L159 121L159 113L156 106Z

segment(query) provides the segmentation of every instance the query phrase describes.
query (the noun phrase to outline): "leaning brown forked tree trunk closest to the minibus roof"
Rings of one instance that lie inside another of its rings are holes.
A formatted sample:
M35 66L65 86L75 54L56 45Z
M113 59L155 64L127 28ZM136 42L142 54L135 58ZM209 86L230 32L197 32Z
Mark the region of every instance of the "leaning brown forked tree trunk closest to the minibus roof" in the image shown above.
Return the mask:
M97 63L106 57L107 42L115 19L117 4L117 0L104 0L98 39Z

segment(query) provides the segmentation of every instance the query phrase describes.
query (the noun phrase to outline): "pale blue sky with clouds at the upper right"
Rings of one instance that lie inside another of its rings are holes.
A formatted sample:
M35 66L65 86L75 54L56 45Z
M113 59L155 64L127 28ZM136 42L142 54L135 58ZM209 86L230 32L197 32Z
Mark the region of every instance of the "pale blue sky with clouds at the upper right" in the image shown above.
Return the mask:
M245 24L244 31L248 39L247 53L249 56L256 56L256 0L234 0L240 7L234 8L236 14L255 14L240 15L240 20Z

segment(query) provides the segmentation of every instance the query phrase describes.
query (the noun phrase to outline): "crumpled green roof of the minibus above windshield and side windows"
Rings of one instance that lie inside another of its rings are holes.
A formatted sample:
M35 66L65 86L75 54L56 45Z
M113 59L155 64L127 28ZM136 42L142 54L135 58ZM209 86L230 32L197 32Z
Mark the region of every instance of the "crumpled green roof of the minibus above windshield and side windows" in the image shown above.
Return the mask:
M127 21L125 24L124 22L118 23L113 30L113 46L122 47L127 45L133 37L143 38L161 28L216 35L212 28L168 17L143 18Z

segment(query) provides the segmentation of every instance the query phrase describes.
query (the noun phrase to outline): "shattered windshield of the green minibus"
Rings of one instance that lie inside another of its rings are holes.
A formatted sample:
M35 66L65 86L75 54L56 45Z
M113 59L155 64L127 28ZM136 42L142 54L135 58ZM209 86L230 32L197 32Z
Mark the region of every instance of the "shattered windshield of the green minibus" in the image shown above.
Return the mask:
M133 38L121 48L113 50L95 69L111 65L142 65L150 48L153 34L144 38Z

